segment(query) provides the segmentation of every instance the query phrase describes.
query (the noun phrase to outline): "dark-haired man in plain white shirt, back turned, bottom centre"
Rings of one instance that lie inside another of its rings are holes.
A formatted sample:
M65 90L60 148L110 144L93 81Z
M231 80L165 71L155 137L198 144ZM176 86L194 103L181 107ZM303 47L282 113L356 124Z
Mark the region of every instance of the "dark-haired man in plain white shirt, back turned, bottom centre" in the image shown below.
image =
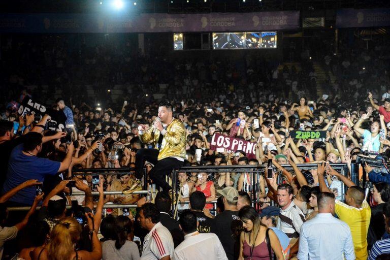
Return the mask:
M181 213L180 228L184 232L184 241L176 247L174 260L228 260L217 235L213 233L199 233L197 216L190 210Z

